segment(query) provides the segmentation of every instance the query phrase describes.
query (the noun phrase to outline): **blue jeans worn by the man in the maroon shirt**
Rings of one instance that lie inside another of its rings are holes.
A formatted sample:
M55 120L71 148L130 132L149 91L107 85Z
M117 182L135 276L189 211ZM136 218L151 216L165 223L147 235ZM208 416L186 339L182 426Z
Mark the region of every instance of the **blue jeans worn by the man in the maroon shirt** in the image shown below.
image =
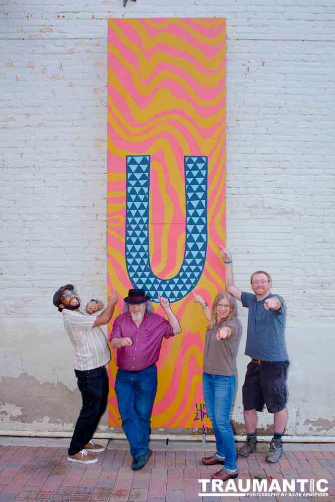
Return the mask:
M133 457L148 451L152 406L157 391L157 368L152 364L140 371L118 369L115 392L122 428Z

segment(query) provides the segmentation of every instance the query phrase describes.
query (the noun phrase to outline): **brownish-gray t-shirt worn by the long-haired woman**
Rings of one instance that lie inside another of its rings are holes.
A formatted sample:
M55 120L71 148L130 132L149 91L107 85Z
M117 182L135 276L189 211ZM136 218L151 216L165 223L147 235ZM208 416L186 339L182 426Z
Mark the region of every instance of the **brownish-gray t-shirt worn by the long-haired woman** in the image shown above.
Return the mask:
M226 340L217 340L218 328L229 327L232 335ZM215 324L205 333L205 349L203 354L203 371L217 375L236 375L236 351L241 338L241 323L237 320L223 321Z

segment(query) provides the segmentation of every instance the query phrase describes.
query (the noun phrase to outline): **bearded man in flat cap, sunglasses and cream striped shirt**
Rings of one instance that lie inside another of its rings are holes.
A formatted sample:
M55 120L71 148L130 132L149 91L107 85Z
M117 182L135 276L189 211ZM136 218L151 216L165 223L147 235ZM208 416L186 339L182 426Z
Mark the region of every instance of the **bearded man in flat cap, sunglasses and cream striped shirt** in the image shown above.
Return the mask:
M91 300L94 302L94 300ZM104 413L108 398L108 376L105 364L110 360L110 351L104 332L118 302L114 291L106 308L99 315L87 315L93 309L83 309L72 284L59 288L53 304L63 313L64 327L74 349L74 372L82 397L82 408L71 439L68 457L70 462L91 464L97 462L94 453L104 447L94 443L92 436ZM102 308L101 302L96 302Z

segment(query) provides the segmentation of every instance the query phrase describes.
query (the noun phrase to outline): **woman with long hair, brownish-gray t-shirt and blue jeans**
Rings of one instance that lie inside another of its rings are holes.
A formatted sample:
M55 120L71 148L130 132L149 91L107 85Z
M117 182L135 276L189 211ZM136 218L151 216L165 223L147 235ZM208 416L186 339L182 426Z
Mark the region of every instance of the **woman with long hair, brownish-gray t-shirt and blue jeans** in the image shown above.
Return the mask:
M235 356L241 324L236 319L235 304L229 293L218 293L211 311L202 296L194 293L193 296L209 321L205 333L202 388L216 439L216 453L202 458L202 463L221 464L222 468L212 478L226 481L238 476L234 433L229 419L235 393Z

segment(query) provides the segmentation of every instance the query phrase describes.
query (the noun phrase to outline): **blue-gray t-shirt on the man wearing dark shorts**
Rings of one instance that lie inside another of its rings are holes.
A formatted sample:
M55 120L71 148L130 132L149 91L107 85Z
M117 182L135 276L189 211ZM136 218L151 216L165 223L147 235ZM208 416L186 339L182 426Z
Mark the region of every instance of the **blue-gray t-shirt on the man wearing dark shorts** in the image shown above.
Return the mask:
M265 300L273 297L280 301L281 310L264 308ZM249 309L245 354L264 361L286 361L285 303L279 295L270 294L267 298L258 302L252 293L241 294L242 305Z

